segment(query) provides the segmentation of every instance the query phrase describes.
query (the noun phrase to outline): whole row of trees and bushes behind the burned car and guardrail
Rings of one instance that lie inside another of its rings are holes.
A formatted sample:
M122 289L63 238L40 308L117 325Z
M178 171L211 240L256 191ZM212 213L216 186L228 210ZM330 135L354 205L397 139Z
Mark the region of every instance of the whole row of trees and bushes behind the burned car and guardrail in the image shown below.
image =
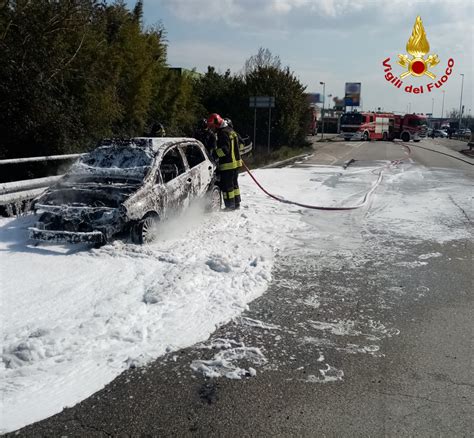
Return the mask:
M304 144L304 87L268 49L245 74L170 69L161 25L144 28L143 1L0 2L0 158L82 152L102 138L192 135L199 117L218 112L253 133L249 96L275 96L272 145ZM266 145L268 111L257 111ZM261 148L266 150L266 148Z

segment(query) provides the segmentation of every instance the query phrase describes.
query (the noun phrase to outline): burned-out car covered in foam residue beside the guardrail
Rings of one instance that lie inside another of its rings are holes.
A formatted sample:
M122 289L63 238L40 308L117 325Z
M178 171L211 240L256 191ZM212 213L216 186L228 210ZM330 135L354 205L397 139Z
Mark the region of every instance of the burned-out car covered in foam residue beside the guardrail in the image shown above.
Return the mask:
M204 199L220 209L216 166L191 138L103 141L35 200L34 240L106 243L129 232L134 243L153 240L159 220Z

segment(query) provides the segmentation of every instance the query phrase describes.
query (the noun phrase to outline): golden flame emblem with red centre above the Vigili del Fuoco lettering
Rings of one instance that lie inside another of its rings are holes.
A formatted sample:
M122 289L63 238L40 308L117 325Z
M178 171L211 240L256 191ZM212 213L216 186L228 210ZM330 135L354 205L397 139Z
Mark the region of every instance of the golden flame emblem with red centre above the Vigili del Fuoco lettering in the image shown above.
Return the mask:
M425 28L423 27L423 22L421 17L418 15L416 17L415 24L413 26L413 31L411 37L407 42L407 52L413 56L412 59L408 55L398 55L398 64L402 67L406 67L408 71L402 73L400 78L403 79L406 76L429 76L431 79L434 79L436 75L431 73L428 68L434 67L439 64L438 55L429 55L426 59L424 56L430 51L430 43L426 38Z

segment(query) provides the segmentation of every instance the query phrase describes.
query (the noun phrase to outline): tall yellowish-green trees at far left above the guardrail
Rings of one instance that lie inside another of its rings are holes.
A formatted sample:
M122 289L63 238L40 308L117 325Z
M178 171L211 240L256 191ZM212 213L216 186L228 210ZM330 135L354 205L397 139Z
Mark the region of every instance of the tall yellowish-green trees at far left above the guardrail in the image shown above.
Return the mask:
M0 13L2 154L84 150L104 136L142 135L159 102L166 45L142 28L143 5L9 1Z

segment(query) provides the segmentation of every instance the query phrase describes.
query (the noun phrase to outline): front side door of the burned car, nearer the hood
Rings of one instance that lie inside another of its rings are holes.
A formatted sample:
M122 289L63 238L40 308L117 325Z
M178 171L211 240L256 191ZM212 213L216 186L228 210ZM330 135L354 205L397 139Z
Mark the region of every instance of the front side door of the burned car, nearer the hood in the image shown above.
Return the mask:
M167 150L160 162L159 176L164 189L164 215L187 207L191 201L192 178L178 146Z

